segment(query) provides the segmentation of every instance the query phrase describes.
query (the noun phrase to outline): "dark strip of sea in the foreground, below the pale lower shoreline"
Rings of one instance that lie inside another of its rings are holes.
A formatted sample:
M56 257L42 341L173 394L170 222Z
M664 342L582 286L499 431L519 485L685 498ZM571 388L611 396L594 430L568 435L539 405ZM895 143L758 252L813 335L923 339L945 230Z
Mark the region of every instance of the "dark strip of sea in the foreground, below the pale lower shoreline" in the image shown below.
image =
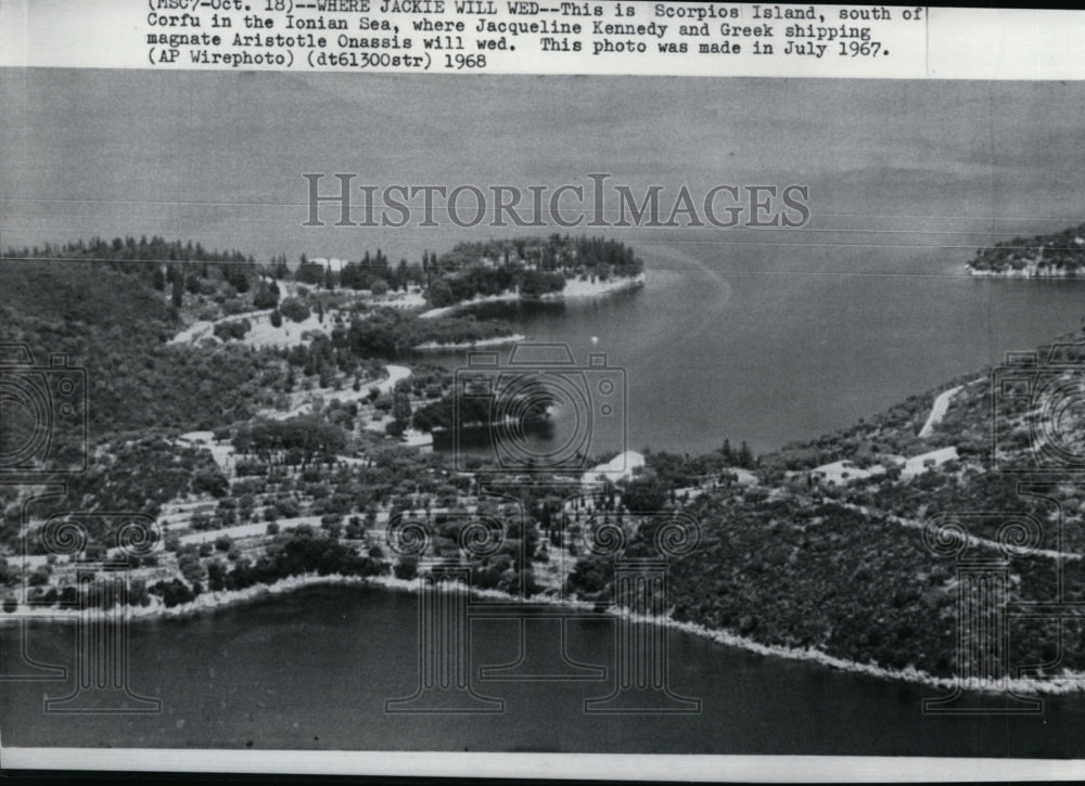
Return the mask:
M0 683L11 746L245 747L689 753L867 753L1068 757L1085 753L1085 701L1048 699L1031 718L924 717L936 688L765 658L672 632L674 693L700 714L599 716L584 700L614 686L609 617L571 620L571 658L605 680L480 682L496 714L386 714L384 700L418 685L416 598L365 588L310 588L186 620L140 622L131 687L158 716L59 716L42 696L73 683ZM515 622L474 619L473 666L516 657ZM71 665L74 629L34 626L36 660ZM4 656L14 629L0 631ZM539 641L542 641L541 639ZM7 661L5 662L10 662ZM476 671L476 669L475 669Z

